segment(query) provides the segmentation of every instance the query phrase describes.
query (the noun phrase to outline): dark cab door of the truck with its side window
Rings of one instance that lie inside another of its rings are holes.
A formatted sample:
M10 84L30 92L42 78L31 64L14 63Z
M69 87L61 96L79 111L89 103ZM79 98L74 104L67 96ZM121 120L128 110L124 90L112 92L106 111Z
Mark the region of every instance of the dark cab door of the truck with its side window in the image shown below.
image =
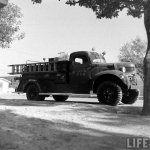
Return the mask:
M74 54L70 61L69 84L72 92L89 94L91 89L89 77L91 63L88 55L85 55L85 53Z

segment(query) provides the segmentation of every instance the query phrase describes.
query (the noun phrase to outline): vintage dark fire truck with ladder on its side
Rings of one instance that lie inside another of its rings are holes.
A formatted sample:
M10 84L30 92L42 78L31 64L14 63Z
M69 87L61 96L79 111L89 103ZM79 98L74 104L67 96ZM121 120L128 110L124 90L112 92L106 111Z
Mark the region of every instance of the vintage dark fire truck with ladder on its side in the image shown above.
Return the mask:
M53 96L65 101L71 95L96 94L102 104L133 104L138 98L135 65L130 62L106 63L95 51L78 51L68 60L59 57L47 62L10 65L10 74L20 74L18 93L28 100Z

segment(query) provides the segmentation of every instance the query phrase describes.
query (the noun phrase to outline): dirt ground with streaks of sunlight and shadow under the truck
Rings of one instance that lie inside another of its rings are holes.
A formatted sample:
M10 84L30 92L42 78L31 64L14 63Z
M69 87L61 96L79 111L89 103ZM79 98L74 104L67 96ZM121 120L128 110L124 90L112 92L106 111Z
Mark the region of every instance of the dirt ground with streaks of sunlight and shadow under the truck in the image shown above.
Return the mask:
M134 105L100 105L96 98L27 101L0 95L0 150L124 150L127 137L150 137L150 117Z

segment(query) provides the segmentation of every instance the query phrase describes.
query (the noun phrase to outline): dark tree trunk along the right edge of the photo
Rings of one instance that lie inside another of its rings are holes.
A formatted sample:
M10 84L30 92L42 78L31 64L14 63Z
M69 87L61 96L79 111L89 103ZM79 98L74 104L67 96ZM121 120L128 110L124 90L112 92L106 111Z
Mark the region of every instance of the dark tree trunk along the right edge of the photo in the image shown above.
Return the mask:
M144 58L144 104L142 114L150 116L150 0L145 0L144 24L148 45Z

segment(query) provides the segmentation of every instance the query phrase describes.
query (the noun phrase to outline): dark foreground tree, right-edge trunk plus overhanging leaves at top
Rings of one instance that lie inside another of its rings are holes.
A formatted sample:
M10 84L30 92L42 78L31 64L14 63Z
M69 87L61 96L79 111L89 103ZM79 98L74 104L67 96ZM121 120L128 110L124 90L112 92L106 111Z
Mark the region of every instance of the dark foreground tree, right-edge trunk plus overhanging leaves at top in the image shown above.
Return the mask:
M41 3L42 0L31 1ZM140 18L144 14L148 45L144 58L144 105L142 112L143 115L150 115L150 0L66 0L66 4L92 9L99 19L117 17L123 9L127 10L127 15L133 17Z

